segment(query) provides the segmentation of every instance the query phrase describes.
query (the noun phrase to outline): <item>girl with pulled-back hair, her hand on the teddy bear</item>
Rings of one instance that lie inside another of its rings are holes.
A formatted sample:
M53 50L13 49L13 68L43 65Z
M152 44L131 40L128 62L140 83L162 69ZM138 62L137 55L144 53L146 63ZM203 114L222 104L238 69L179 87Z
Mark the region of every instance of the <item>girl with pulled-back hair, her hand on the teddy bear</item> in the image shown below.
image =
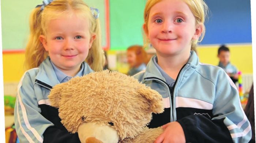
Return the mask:
M251 126L236 85L221 68L199 62L204 36L204 0L148 0L144 45L155 48L146 71L136 74L163 97L165 111L153 114L149 128L162 126L155 143L246 143Z

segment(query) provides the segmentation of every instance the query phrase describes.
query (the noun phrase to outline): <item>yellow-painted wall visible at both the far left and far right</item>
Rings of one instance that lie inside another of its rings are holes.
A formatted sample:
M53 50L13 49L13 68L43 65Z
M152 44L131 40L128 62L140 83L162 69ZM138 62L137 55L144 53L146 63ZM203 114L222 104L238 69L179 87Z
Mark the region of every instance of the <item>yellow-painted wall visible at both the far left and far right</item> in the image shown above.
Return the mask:
M252 45L227 45L230 49L230 61L242 73L253 73L252 71ZM199 46L197 53L202 63L218 65L218 47ZM18 82L24 73L24 53L3 53L4 82ZM121 72L121 70L120 70Z

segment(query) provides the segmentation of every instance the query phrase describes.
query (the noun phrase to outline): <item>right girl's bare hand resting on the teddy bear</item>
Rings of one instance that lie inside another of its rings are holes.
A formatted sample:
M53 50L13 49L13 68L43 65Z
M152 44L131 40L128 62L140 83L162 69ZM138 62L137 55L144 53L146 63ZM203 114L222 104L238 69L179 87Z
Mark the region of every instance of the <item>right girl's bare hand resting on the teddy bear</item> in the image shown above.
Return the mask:
M162 126L165 130L158 136L155 143L185 143L184 131L177 121L167 123Z

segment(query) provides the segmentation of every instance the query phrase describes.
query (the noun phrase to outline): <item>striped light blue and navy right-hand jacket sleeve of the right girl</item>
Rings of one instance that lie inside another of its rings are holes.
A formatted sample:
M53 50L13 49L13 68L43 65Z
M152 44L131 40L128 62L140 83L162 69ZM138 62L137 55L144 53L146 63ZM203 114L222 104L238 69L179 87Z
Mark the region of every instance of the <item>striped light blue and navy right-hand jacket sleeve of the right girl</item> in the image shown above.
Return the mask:
M186 142L247 143L251 139L251 125L242 109L236 85L223 70L218 71L212 119L191 115L177 120Z

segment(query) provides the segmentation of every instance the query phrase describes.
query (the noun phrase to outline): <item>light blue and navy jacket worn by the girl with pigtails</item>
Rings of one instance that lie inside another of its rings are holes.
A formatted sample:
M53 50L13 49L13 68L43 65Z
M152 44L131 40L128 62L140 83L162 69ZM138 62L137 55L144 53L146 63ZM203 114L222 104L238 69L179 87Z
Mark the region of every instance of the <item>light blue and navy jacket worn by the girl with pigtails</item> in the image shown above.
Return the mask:
M83 74L93 72L86 62L82 64ZM78 134L69 133L61 124L58 109L50 106L47 96L59 83L49 57L39 67L26 71L21 78L14 109L20 142L80 143Z

